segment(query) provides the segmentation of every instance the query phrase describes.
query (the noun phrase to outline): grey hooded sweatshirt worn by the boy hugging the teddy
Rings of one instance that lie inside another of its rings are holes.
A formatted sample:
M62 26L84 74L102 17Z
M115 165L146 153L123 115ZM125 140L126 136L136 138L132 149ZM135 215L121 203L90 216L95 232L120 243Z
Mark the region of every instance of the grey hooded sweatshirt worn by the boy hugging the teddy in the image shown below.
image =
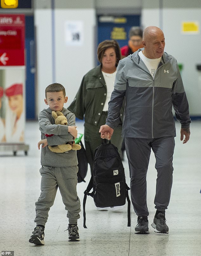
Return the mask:
M41 139L47 139L49 146L61 145L69 141L74 141L73 136L68 133L68 126L75 126L75 114L64 107L61 112L66 116L68 125L56 125L50 108L43 109L38 114ZM45 134L53 134L53 136L46 137ZM41 165L53 167L75 166L78 164L76 152L76 150L69 150L64 153L54 153L49 150L48 146L46 146L41 149Z

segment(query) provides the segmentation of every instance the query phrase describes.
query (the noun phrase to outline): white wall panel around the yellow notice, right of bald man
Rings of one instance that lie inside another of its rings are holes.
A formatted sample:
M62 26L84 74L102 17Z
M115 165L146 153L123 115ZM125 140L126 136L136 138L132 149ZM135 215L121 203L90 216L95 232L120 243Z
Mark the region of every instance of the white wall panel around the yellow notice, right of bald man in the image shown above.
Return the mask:
M183 64L182 79L192 116L201 115L201 84L198 81L197 64L201 64L201 35L182 32L182 22L198 22L201 29L201 8L163 9L165 51ZM201 75L201 74L200 74Z

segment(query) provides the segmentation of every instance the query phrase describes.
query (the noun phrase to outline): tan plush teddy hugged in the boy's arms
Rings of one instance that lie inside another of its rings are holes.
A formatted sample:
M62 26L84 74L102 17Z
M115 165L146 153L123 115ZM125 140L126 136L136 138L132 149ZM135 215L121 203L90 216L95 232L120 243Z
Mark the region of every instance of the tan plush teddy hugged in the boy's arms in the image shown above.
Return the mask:
M52 116L55 119L55 124L61 124L61 125L67 125L68 121L67 118L63 115L60 111L52 111ZM46 135L47 136L47 135ZM54 153L64 153L69 150L79 150L81 149L80 144L75 144L75 141L73 142L67 142L66 144L62 145L54 145L54 146L48 146L49 150Z

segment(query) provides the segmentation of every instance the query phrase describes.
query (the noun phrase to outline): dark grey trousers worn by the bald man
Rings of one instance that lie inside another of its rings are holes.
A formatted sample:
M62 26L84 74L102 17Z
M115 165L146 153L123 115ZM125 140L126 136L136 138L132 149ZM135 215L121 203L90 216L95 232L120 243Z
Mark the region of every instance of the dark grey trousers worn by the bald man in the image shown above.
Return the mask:
M125 144L130 171L131 201L136 215L149 215L146 203L146 174L151 149L156 158L157 170L154 204L156 209L164 211L169 205L172 188L174 137L125 138Z

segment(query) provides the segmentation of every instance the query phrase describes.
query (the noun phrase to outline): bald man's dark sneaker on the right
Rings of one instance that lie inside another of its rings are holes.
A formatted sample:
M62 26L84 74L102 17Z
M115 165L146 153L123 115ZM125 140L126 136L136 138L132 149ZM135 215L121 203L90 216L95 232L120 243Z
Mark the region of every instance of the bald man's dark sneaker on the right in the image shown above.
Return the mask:
M169 233L169 228L166 224L166 219L165 219L165 211L164 212L159 212L157 215L155 214L152 227L155 228L154 232L157 233L163 233L163 234L168 234Z

